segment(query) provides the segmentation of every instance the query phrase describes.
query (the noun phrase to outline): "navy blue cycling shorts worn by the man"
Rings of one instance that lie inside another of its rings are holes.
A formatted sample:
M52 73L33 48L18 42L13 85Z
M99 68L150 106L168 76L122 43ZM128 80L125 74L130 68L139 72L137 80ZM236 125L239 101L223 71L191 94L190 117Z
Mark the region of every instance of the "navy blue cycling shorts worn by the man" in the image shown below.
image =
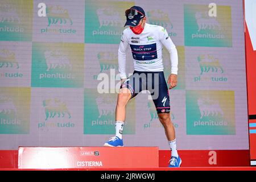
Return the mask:
M169 90L163 72L139 72L122 82L120 88L131 91L131 98L143 90L148 90L158 113L170 113Z

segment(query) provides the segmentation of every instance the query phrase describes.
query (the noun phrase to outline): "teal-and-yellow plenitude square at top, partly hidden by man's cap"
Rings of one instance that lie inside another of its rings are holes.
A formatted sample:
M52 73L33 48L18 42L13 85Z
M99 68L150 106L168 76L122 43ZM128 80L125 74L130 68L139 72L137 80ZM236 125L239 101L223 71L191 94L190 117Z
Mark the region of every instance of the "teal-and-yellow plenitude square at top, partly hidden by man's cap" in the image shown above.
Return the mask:
M126 22L124 12L131 6L134 2L86 1L85 43L119 44Z

